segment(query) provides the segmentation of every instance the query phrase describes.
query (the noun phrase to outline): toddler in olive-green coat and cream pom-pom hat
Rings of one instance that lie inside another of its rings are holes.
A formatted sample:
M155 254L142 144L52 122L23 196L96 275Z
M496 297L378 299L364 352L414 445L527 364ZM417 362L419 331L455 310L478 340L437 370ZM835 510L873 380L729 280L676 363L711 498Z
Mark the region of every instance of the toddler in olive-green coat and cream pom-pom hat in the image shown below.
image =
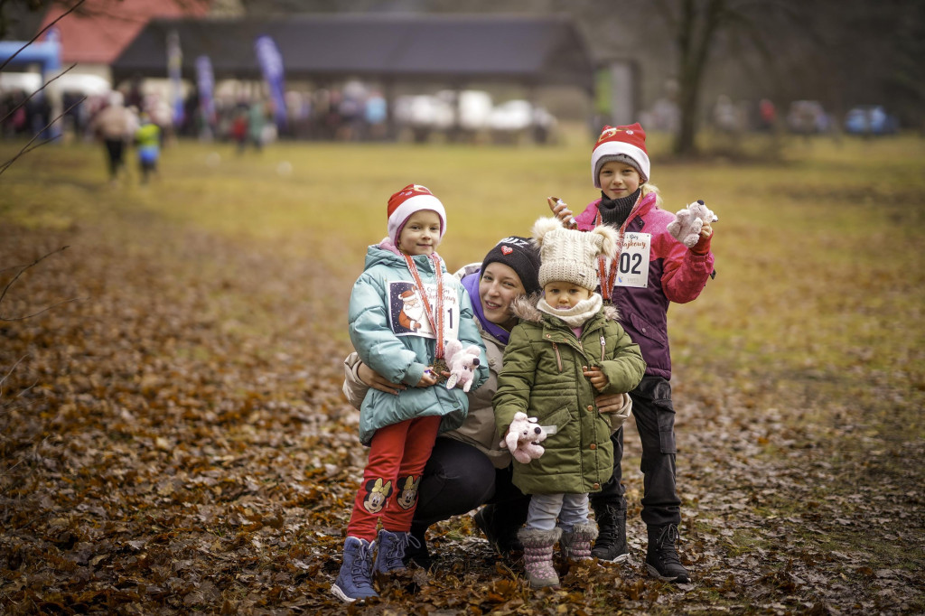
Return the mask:
M646 363L616 310L595 292L598 259L618 252L619 232L606 226L582 232L541 218L533 236L543 296L514 305L521 322L504 351L493 403L499 437L517 412L536 417L549 435L543 455L514 462L513 474L514 485L532 495L518 537L530 585L541 587L559 584L552 566L557 541L566 559L591 556L598 527L588 519L588 493L611 477L611 432L629 413L627 403L624 413L602 414L594 400L635 388Z

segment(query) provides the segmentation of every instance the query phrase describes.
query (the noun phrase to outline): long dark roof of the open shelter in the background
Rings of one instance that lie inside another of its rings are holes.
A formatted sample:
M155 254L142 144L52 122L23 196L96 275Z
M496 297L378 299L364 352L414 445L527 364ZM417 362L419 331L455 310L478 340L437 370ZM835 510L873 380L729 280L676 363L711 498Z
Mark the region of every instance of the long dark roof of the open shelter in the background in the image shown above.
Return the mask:
M111 65L114 81L166 76L172 31L183 53L182 74L195 76L198 56L216 79L259 79L254 40L277 43L287 80L351 78L386 84L414 81L462 87L504 82L526 87L568 85L591 93L594 66L572 21L564 17L311 15L278 18L154 19Z

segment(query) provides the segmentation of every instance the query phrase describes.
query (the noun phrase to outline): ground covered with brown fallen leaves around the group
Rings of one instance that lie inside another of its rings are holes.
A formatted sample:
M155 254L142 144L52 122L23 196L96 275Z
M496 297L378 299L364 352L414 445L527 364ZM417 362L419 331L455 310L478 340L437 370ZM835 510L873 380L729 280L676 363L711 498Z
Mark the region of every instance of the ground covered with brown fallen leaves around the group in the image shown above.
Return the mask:
M630 425L629 562L531 592L461 516L432 529L434 570L348 608L329 586L364 450L330 315L351 279L130 208L0 217L0 238L0 289L53 253L0 317L76 300L0 321L0 613L925 612L920 380L677 352L691 584L644 573Z

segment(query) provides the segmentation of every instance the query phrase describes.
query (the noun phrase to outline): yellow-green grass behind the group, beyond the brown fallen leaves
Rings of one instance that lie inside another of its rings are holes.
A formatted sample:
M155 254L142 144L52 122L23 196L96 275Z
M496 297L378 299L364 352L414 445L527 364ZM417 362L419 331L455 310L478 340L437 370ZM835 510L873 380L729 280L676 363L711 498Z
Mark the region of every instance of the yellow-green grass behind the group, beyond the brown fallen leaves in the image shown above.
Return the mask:
M526 234L546 213L547 195L576 209L594 198L587 144L573 141L557 148L281 143L244 155L224 144L183 143L166 150L162 178L147 188L106 186L95 146L46 147L0 178L0 216L67 229L145 213L232 240L282 244L350 278L362 268L364 247L385 234L388 195L417 182L447 204L440 253L454 269L505 235ZM660 164L667 143L654 141L663 207L703 198L721 217L718 277L700 300L672 309L679 360L707 356L735 374L842 374L856 385L863 379L849 375L859 369L925 388L925 142L794 141L781 162L736 165Z

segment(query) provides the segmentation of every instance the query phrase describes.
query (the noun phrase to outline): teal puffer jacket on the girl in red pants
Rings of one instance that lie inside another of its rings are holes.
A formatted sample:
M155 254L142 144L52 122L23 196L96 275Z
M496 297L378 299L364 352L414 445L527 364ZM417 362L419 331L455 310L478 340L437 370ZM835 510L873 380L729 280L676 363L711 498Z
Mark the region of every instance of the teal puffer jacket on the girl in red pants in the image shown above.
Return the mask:
M440 432L454 430L462 425L469 402L461 388L447 389L445 382L428 388L416 388L428 365L436 356L436 341L421 336L396 335L390 319L389 288L393 283L412 282L404 258L390 243L373 245L366 251L363 274L353 285L348 323L353 348L370 368L392 383L409 386L398 396L370 388L360 408L360 442L368 445L376 430L385 425L398 424L405 419L426 415L442 415ZM447 273L445 268L435 273L433 263L426 256L413 257L422 282L436 283L436 275L443 278L444 293L455 295L459 302L459 340L463 346L477 345L481 350L479 367L472 389L478 388L488 376L485 345L475 326L472 303L462 285Z

